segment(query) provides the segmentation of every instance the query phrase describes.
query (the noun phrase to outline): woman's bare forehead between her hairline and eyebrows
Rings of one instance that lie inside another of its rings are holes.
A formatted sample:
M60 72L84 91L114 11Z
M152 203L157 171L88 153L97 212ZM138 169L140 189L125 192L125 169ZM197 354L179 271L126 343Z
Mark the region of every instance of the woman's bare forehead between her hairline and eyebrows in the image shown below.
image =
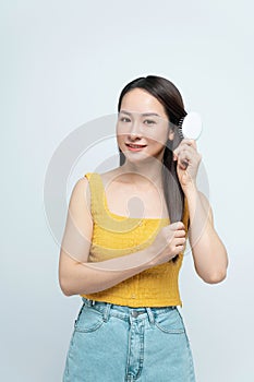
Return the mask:
M121 110L138 114L154 112L167 118L165 108L158 99L142 88L134 88L123 96Z

